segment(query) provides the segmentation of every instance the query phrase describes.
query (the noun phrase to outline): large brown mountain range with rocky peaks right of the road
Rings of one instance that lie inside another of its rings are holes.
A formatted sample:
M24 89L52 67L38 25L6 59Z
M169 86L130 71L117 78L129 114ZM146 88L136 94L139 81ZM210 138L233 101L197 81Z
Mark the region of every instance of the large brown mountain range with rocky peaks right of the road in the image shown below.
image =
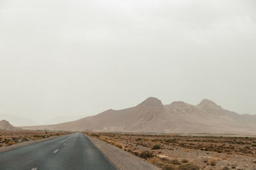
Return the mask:
M22 127L45 129L45 126ZM98 132L255 134L256 115L239 115L203 99L197 105L175 101L163 105L155 97L124 110L107 110L92 117L47 125L50 130Z

